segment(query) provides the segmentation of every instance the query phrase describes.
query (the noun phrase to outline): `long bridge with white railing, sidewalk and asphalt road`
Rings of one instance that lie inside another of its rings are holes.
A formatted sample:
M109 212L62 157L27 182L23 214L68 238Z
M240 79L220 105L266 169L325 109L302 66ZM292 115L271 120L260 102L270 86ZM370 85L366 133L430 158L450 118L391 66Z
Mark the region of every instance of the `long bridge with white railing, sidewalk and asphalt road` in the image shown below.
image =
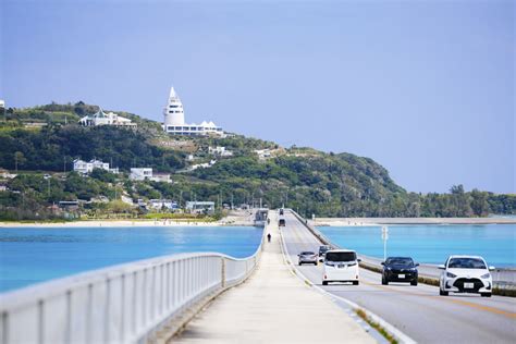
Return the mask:
M293 262L325 238L294 212L281 230L277 217L271 243L245 259L165 256L2 294L0 343L386 342L368 322L401 343L516 341L512 297L441 297L366 269L360 285L322 286L320 266Z

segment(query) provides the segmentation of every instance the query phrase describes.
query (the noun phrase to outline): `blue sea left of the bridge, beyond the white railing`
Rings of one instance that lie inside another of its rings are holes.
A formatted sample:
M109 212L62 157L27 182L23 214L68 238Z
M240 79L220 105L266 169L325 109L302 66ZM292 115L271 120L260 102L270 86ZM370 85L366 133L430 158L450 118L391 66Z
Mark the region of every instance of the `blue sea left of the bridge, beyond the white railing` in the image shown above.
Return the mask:
M261 234L251 226L0 229L0 292L162 255L243 258L255 253Z

